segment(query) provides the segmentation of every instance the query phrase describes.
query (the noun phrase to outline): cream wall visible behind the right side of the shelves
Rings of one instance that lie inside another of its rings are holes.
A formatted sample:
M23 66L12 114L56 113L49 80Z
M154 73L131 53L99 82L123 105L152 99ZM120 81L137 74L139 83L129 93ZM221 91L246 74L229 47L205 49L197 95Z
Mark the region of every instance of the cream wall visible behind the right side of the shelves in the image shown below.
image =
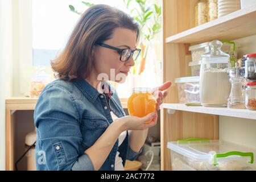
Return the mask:
M238 58L247 53L256 53L256 35L234 41L240 46L237 49ZM220 139L256 148L256 118L220 117L219 121Z

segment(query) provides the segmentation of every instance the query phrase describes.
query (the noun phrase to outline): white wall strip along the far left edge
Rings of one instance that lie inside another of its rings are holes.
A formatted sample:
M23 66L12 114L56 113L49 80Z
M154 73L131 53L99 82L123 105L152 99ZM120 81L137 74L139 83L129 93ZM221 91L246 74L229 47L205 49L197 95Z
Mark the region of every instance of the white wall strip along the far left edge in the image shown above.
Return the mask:
M0 0L0 170L5 169L5 98L13 90L12 2Z

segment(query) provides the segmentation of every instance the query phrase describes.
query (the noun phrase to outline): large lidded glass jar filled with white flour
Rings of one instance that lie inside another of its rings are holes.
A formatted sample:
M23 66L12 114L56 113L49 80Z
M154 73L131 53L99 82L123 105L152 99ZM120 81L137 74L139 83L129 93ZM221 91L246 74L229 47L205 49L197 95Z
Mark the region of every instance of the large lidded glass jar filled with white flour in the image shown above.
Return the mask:
M206 107L226 107L231 84L228 71L230 56L221 51L222 42L210 42L210 52L202 56L200 69L201 105Z

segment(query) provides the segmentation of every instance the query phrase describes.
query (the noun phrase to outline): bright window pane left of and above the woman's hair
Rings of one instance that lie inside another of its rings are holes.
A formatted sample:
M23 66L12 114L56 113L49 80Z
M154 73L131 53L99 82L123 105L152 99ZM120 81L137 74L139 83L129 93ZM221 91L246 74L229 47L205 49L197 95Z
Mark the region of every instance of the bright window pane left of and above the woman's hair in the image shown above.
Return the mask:
M123 1L92 2L116 6L126 11ZM32 0L34 66L49 66L49 61L54 59L65 46L69 34L80 17L69 10L69 5L74 5L81 12L87 8L81 0Z

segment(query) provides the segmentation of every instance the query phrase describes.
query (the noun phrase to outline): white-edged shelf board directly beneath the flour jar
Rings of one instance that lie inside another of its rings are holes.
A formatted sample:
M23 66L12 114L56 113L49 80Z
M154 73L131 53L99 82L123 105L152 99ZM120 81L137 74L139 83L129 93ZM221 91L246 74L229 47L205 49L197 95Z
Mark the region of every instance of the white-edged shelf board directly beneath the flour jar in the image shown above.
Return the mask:
M183 110L195 113L224 115L228 117L256 119L256 111L247 109L228 109L222 107L186 106L184 104L163 104L164 109Z

